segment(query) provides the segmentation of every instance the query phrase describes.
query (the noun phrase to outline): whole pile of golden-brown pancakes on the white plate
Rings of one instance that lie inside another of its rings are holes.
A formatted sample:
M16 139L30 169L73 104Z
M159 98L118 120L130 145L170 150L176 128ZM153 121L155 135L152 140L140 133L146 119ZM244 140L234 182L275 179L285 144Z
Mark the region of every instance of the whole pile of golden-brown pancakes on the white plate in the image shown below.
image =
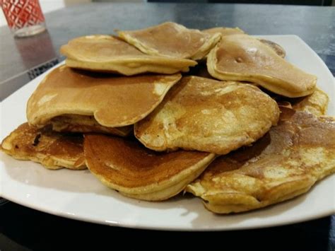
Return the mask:
M13 158L88 168L127 197L191 192L221 214L307 192L335 171L335 120L317 78L239 28L163 23L89 35L31 95L2 141Z

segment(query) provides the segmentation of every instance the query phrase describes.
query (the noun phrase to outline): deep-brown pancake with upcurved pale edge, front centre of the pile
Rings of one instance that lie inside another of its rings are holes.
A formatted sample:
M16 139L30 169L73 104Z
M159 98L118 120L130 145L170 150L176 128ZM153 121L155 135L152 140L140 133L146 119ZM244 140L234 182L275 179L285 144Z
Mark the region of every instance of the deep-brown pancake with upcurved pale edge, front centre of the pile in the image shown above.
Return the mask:
M161 201L178 194L211 163L213 153L157 153L134 139L86 134L86 164L107 187L127 197Z

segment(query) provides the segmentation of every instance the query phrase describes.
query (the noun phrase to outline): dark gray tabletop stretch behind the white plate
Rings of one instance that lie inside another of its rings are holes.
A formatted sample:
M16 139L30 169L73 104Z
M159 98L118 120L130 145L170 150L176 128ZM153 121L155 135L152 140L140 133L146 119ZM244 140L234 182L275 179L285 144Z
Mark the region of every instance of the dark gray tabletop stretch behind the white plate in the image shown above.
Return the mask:
M240 27L252 35L295 34L335 72L335 7L247 4L110 4L62 8L45 15L49 33L13 39L0 28L0 84L59 55L59 47L81 35L109 34L175 21L189 28Z

